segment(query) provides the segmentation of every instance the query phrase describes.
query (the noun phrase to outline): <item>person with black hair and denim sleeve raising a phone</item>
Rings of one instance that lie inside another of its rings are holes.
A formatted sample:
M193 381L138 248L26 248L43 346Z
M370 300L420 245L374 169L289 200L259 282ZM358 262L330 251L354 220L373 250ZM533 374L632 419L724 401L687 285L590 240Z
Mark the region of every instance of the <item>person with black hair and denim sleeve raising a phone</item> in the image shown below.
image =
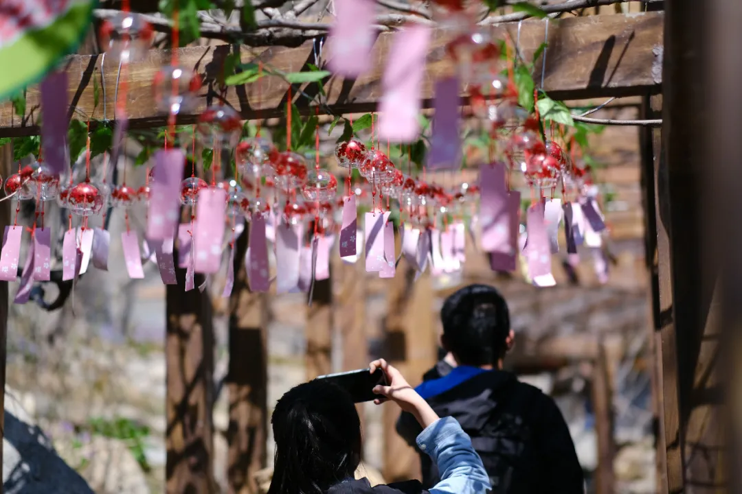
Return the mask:
M490 483L469 436L453 418L439 418L404 377L384 359L388 386L377 386L375 404L394 401L416 420L418 449L441 472L441 479L424 490L419 481L371 487L356 480L361 462L361 421L350 395L323 379L299 384L276 404L271 423L275 439L273 478L268 494L485 494Z

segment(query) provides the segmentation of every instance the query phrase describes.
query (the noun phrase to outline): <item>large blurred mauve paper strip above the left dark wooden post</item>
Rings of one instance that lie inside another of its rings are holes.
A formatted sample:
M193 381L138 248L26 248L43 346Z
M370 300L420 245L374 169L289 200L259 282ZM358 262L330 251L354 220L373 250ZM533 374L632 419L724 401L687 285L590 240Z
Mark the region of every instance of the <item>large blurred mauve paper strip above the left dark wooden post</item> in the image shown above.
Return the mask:
M147 238L165 240L172 238L180 216L180 182L183 181L185 155L183 150L168 149L157 151L154 158L156 163L154 183L150 186Z

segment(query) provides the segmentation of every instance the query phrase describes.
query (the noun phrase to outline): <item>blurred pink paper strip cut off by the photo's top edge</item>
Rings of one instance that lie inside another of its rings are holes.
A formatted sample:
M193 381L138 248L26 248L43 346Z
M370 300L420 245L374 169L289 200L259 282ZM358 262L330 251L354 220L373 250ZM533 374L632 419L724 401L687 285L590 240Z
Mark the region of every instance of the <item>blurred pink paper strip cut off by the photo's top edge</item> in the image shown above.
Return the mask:
M375 3L372 0L342 0L335 4L335 22L330 28L330 70L355 79L372 67L371 48Z

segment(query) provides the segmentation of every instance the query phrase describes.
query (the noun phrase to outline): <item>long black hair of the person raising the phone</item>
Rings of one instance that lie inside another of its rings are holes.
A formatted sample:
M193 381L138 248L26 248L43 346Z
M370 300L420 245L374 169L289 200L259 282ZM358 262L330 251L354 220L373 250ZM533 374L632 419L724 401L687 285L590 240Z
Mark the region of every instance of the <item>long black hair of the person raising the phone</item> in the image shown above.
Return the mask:
M361 421L348 393L321 379L278 400L275 461L268 494L322 494L361 462Z

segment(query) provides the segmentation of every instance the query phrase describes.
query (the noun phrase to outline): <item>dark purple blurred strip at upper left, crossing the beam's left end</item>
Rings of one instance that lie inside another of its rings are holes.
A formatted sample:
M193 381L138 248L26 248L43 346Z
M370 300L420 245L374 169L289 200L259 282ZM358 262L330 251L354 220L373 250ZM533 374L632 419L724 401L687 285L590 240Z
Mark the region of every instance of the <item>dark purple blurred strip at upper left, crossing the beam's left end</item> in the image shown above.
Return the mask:
M40 84L42 99L42 146L50 172L62 175L68 166L68 77L65 70L49 73Z

